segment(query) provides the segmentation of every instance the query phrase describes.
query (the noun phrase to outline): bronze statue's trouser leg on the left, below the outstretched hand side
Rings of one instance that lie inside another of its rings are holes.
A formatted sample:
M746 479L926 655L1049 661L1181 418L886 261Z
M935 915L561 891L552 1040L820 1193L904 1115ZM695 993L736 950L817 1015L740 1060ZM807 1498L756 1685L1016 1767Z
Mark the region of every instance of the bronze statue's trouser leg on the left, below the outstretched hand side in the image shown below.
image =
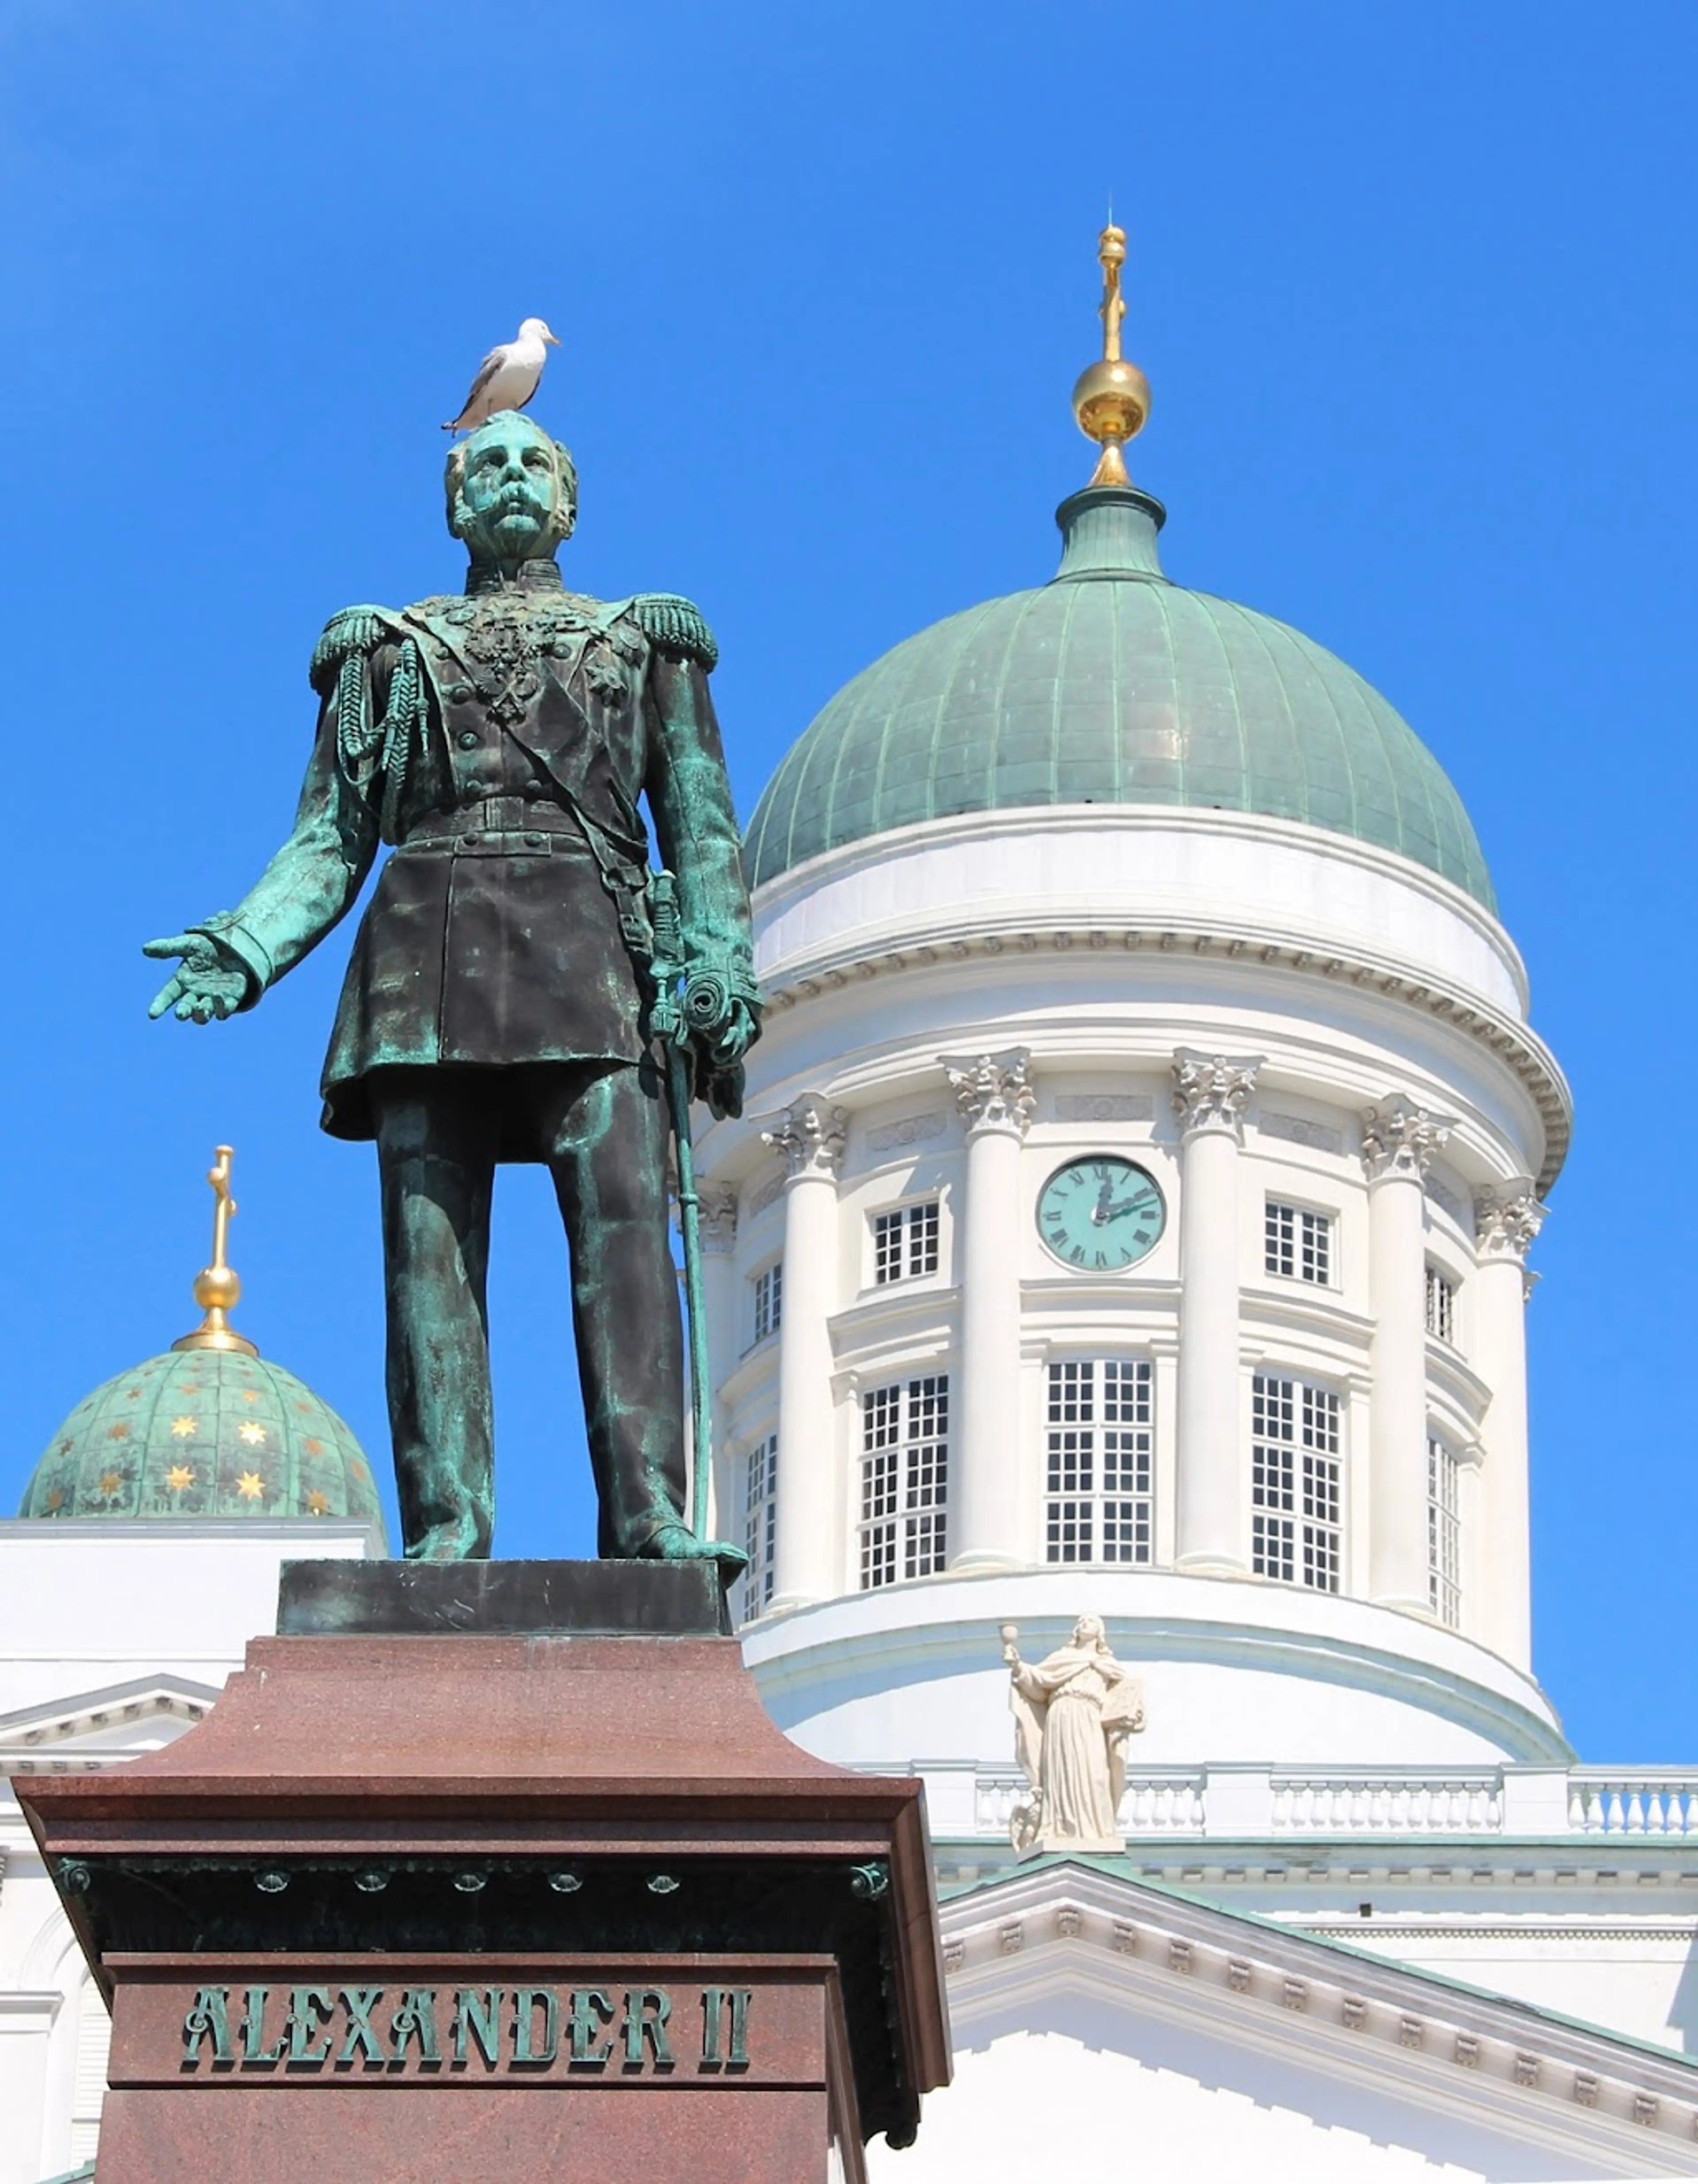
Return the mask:
M490 1553L490 1195L494 1125L441 1085L376 1099L389 1313L389 1431L402 1546L413 1559Z

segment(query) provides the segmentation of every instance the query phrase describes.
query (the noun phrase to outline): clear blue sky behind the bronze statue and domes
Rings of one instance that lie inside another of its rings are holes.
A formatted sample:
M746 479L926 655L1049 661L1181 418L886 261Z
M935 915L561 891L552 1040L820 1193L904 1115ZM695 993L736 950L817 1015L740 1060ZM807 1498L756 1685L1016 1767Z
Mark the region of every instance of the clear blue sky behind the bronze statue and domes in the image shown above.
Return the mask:
M1130 229L1167 568L1351 660L1455 778L1580 1125L1530 1315L1536 1651L1587 1758L1698 1760L1691 9L9 0L11 1505L192 1324L380 1457L372 1155L319 1136L332 941L149 1024L153 933L286 830L306 657L457 581L437 432L527 312L573 581L695 594L741 808L830 692L1051 572L1095 232ZM500 1548L586 1553L546 1186L503 1179Z

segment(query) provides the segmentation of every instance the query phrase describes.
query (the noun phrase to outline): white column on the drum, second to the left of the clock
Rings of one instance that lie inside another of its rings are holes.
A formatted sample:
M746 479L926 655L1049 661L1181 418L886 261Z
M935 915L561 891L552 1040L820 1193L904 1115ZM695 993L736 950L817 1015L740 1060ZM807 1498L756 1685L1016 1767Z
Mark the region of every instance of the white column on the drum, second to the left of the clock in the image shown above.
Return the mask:
M844 1590L830 1315L837 1310L837 1168L846 1123L841 1107L806 1094L760 1131L785 1158L774 1610Z

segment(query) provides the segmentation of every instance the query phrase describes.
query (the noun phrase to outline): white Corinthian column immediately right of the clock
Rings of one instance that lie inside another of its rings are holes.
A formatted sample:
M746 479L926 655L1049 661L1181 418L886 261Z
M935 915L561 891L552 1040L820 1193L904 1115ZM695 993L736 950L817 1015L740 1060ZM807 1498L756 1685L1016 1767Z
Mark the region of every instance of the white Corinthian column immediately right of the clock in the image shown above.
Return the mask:
M1180 1439L1176 1562L1248 1570L1239 1400L1239 1147L1261 1055L1174 1055L1180 1118Z

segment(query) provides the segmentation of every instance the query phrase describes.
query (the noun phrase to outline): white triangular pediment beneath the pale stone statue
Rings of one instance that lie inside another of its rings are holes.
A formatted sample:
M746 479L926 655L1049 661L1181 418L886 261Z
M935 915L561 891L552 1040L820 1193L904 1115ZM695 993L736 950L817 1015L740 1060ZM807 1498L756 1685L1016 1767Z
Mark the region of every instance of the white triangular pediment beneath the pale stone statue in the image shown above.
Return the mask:
M1440 2173L1698 2171L1698 2060L1095 1865L1047 1861L955 1896L942 1935L957 2075L981 2116L1021 2055L1036 2081L1077 2049L1152 2114L1191 2088L1204 2121L1187 2129L1233 2116L1246 2158L1246 2118L1300 2114L1316 2151L1370 2145ZM1202 2149L1193 2173L1211 2173ZM1379 2173L1366 2153L1359 2173Z

